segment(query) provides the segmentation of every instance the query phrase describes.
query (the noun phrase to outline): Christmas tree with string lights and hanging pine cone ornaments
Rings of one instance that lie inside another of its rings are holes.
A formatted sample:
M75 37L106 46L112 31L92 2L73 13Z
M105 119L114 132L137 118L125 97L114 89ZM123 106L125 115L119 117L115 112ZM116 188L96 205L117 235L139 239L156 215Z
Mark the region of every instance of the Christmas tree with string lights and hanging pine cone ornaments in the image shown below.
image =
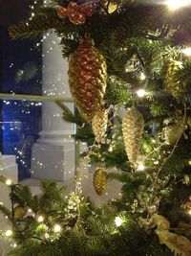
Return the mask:
M79 178L64 199L53 181L32 197L2 177L11 188L11 210L0 205L12 224L5 235L17 244L9 255L191 255L191 9L145 2L52 0L11 26L13 39L61 38L78 114L56 104L88 143L96 193L117 179L122 196L96 208ZM120 173L107 175L114 167Z

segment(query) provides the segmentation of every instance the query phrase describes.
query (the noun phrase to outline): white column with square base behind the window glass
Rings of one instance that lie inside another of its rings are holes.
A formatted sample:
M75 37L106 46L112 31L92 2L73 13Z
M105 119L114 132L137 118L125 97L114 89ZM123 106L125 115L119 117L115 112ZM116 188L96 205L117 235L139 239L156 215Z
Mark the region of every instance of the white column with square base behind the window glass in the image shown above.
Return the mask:
M52 50L53 49L53 50ZM53 33L43 42L42 87L44 95L71 97L68 62L62 58L59 39ZM66 104L74 111L74 104ZM62 110L53 102L42 105L42 131L32 146L32 177L67 180L74 177L74 125L62 120Z

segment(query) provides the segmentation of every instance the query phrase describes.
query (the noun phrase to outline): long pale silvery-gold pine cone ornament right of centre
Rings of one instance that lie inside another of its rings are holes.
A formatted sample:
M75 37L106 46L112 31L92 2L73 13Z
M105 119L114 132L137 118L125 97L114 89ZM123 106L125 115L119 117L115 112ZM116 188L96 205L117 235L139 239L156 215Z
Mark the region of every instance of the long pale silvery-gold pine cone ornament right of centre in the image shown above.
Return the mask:
M133 164L136 164L138 161L143 128L143 117L138 109L133 106L122 120L122 134L125 150L129 161Z

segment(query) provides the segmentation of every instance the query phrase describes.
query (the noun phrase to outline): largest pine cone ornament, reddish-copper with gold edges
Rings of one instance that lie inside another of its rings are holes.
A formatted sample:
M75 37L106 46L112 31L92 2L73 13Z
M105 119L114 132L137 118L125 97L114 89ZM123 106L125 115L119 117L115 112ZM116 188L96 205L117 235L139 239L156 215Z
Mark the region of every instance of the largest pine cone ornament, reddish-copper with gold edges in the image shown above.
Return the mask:
M90 38L81 42L70 59L69 84L79 112L86 121L91 121L103 105L107 66Z

